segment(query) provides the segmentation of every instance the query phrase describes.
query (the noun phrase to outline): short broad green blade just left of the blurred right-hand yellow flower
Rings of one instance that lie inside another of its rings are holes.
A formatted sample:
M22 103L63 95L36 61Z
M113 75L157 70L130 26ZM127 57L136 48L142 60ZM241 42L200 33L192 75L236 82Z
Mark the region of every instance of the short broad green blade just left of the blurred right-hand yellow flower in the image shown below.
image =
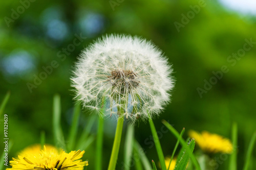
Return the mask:
M188 148L190 149L191 153L189 153L190 151L187 151L184 147L181 149L182 156L177 159L177 165L175 167L175 170L186 169L187 163L190 159L190 155L193 154L193 151L195 149L195 144L195 140L191 140L188 145Z

